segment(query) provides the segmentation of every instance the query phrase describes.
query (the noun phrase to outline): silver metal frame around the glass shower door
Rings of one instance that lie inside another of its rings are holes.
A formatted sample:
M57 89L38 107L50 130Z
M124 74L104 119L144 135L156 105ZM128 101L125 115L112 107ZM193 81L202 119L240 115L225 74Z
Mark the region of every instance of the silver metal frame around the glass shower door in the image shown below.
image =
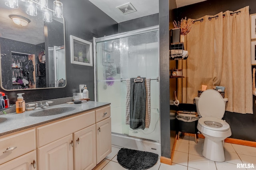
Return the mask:
M146 27L146 28L142 28L142 29L136 29L134 31L128 31L128 32L124 32L124 33L118 33L118 34L114 34L114 35L109 35L109 36L105 36L105 37L100 37L100 38L96 38L93 37L93 57L94 57L94 99L95 101L98 101L97 98L97 90L98 90L98 78L97 78L97 59L96 59L96 43L99 42L103 42L103 41L108 41L108 40L112 40L112 39L120 39L123 37L128 37L128 36L132 36L132 35L138 35L141 33L148 33L148 32L152 32L152 31L158 31L158 38L159 38L159 25L156 26L152 26L152 27ZM158 41L158 49L159 49L159 41ZM158 63L159 63L159 56L158 56ZM158 67L158 71L160 73L160 65ZM159 77L160 78L160 75ZM159 90L159 97L160 97L160 88ZM160 102L159 102L159 107L160 107ZM160 108L159 108L160 109ZM159 120L160 121L160 120Z

